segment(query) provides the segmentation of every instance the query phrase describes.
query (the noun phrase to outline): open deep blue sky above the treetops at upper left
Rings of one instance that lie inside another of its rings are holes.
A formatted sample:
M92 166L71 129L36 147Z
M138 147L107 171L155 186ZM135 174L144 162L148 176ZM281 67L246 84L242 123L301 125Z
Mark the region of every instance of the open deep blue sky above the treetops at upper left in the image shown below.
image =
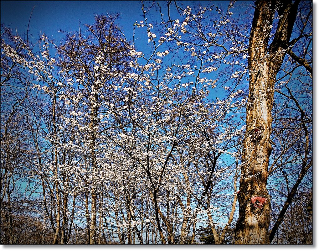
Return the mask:
M93 24L96 14L120 14L119 24L130 40L133 23L141 18L140 1L1 1L1 23L26 32L34 7L30 27L35 38L45 33L59 40L58 30L78 30L81 24Z

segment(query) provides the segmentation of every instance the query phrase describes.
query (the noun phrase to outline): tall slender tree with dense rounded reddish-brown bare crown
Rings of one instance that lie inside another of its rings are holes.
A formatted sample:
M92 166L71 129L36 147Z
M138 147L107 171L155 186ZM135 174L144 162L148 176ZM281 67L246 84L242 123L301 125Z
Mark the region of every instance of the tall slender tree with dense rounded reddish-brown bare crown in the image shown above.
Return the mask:
M103 15L95 17L94 25L86 25L89 32L83 36L82 33L66 34L65 42L59 46L59 67L72 78L75 77L83 84L84 88L75 91L84 96L82 102L86 102L88 108L88 148L91 163L88 170L97 171L97 140L100 103L103 102L102 94L108 98L108 85L116 83L115 72L122 74L128 72L129 44L115 25L116 17ZM95 64L94 64L95 62ZM72 92L74 93L74 91ZM71 94L72 95L72 94ZM71 95L68 95L72 99ZM112 96L115 99L116 96ZM103 115L102 115L103 116ZM98 185L98 184L96 184ZM89 243L96 244L96 215L97 215L97 186L91 189L91 220Z

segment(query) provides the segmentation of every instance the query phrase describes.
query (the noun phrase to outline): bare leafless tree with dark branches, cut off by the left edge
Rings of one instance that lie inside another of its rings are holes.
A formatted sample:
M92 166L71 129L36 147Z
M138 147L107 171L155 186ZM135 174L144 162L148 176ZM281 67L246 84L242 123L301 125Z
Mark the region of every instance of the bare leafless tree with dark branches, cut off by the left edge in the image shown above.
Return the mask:
M2 27L1 37L8 42L7 46L1 43L1 51L8 49L21 60L30 58L10 29ZM28 217L29 213L25 205L30 205L30 211L34 208L31 196L34 188L28 187L31 179L25 175L30 171L32 161L28 156L33 154L33 149L28 143L28 131L22 129L26 119L20 111L26 105L30 90L27 83L34 77L19 65L21 60L12 60L1 54L1 243L6 244L17 244L23 239L20 233L27 227L21 219ZM20 190L24 184L26 189Z

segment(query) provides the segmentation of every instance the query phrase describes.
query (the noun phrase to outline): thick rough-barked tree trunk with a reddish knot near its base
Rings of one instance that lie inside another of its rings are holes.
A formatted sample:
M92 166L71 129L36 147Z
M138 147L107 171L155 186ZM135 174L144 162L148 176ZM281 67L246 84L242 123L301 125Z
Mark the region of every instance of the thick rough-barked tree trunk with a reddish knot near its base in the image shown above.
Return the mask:
M289 39L300 1L256 1L249 40L249 97L247 128L238 193L239 218L236 244L268 244L270 196L266 185L271 153L271 109L276 75L289 48ZM268 45L272 22L278 25Z

